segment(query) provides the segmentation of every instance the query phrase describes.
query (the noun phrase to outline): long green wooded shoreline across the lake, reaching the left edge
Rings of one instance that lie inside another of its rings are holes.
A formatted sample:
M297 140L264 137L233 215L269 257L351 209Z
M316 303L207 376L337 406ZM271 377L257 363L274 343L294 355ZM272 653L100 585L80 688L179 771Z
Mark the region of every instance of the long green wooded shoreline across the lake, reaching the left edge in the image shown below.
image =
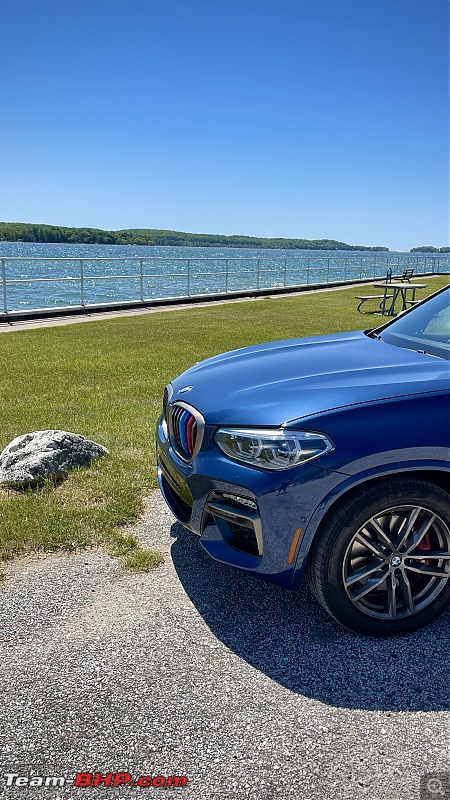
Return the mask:
M152 228L102 231L98 228L64 228L58 225L32 225L25 222L0 222L0 241L172 245L177 247L260 247L274 250L389 250L388 247L364 247L363 245L338 242L335 239L262 239L256 236L222 236L209 233L160 231Z

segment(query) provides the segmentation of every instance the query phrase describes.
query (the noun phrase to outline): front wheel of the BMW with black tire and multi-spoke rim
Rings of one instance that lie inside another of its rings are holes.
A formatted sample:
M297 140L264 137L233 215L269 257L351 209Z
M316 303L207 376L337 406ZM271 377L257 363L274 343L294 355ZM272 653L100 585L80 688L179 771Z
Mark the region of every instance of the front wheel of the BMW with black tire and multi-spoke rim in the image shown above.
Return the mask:
M450 604L450 495L415 478L362 488L319 530L308 577L325 610L356 633L427 625Z

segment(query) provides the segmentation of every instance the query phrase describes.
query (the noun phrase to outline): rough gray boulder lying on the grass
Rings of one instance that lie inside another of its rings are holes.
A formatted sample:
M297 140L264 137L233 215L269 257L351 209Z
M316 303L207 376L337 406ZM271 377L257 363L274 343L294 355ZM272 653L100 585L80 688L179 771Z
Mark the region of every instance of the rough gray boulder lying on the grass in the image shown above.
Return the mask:
M13 439L0 453L0 484L31 486L63 478L74 467L108 455L106 447L67 431L34 431Z

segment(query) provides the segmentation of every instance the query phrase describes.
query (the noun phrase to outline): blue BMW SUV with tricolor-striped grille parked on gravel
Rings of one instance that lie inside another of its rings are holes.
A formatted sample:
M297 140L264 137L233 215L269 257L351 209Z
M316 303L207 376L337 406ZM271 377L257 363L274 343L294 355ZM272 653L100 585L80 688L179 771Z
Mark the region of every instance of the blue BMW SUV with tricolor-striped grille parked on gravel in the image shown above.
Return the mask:
M218 561L352 631L450 603L450 287L374 330L215 356L164 391L158 480Z

